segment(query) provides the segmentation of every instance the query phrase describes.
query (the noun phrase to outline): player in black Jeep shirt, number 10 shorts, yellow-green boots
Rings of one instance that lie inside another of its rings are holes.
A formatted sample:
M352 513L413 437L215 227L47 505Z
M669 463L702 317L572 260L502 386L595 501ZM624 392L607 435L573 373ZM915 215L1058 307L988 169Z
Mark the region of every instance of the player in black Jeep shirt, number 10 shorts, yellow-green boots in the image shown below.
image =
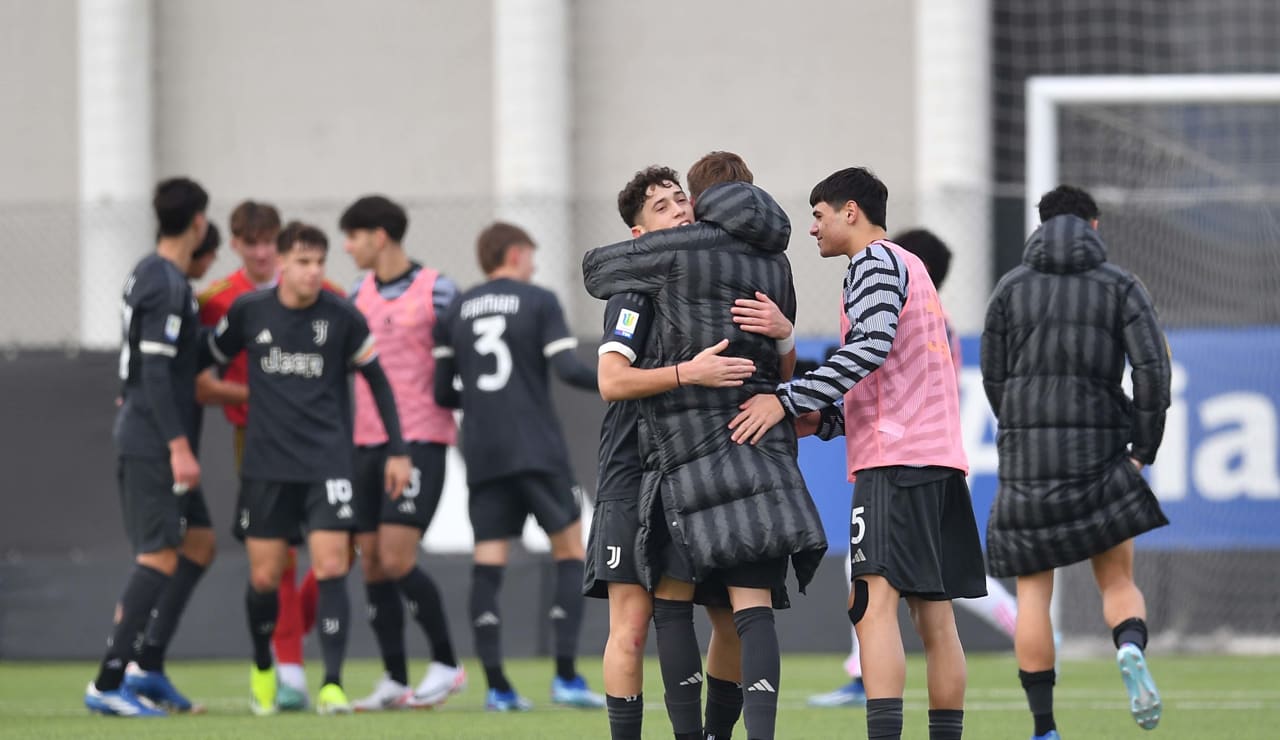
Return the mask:
M253 412L244 430L239 525L250 561L246 594L253 641L252 709L276 711L271 632L276 589L289 561L289 538L303 530L316 574L316 622L324 681L321 714L347 713L342 689L351 604L346 576L351 533L352 419L348 375L358 369L387 430L384 485L399 498L412 471L390 384L378 364L365 318L324 289L329 242L320 229L292 223L276 239L279 283L236 300L210 337L219 362L248 353Z

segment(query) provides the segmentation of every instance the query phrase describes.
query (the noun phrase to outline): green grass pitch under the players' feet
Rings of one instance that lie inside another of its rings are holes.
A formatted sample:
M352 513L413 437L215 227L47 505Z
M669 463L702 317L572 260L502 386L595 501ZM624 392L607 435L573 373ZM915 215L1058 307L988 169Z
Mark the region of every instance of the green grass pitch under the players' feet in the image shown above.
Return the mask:
M778 709L780 739L865 737L861 709L810 709L805 698L841 682L837 656L785 656ZM1059 731L1066 740L1149 737L1151 740L1280 737L1280 659L1239 657L1151 658L1165 702L1165 716L1152 734L1129 718L1120 676L1111 661L1064 661L1055 693ZM413 679L421 662L411 664ZM584 659L582 670L600 688L599 663ZM248 662L174 662L169 675L192 699L204 702L201 716L165 720L119 720L90 716L82 704L84 685L93 676L90 663L0 663L0 737L269 737L271 740L326 737L440 737L440 739L566 739L609 736L603 711L550 707L549 661L517 661L509 666L516 688L534 700L527 714L486 714L479 666L467 663L471 686L435 711L317 717L312 713L252 717L247 708ZM314 684L316 663L308 666ZM352 698L367 691L379 673L372 661L347 666ZM645 737L671 737L662 703L658 666L645 666ZM1027 739L1030 716L1018 685L1011 654L969 658L965 737ZM924 663L913 657L908 668L904 737L925 740L927 698ZM746 737L739 725L735 737Z

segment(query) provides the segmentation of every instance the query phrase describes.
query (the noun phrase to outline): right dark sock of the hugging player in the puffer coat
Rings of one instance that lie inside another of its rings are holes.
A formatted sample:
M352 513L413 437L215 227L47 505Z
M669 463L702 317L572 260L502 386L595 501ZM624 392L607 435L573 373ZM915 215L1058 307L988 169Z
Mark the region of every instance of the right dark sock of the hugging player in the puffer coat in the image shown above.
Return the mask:
M778 717L778 680L782 657L773 609L751 607L733 612L742 640L742 722L751 740L773 740Z

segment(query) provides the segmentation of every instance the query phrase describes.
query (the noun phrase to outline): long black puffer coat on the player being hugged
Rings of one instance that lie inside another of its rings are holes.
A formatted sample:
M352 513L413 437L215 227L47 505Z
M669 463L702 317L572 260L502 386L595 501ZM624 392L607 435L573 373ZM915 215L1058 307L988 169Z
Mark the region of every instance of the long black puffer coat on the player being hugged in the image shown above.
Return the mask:
M755 361L739 388L684 387L640 402L645 485L636 562L655 585L664 533L684 548L696 580L712 568L791 557L800 590L827 551L818 510L796 462L796 435L778 424L758 446L735 444L728 422L755 393L780 382L773 339L739 329L730 309L760 291L788 318L795 287L786 257L791 224L763 189L746 183L709 188L699 223L593 250L582 260L596 298L636 292L653 297L654 323L643 366L690 360L728 338L724 355Z

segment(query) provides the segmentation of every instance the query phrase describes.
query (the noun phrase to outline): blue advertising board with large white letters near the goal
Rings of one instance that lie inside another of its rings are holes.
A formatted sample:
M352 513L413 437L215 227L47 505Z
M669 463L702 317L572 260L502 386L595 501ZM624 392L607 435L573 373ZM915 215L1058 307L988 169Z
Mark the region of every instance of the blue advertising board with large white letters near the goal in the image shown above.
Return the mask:
M1280 549L1280 328L1169 332L1172 405L1156 463L1146 471L1170 526L1147 549ZM827 342L797 346L820 360ZM960 417L969 487L986 535L996 497L996 420L982 390L978 338L963 343ZM827 526L831 553L847 551L844 440L800 442L800 467Z

